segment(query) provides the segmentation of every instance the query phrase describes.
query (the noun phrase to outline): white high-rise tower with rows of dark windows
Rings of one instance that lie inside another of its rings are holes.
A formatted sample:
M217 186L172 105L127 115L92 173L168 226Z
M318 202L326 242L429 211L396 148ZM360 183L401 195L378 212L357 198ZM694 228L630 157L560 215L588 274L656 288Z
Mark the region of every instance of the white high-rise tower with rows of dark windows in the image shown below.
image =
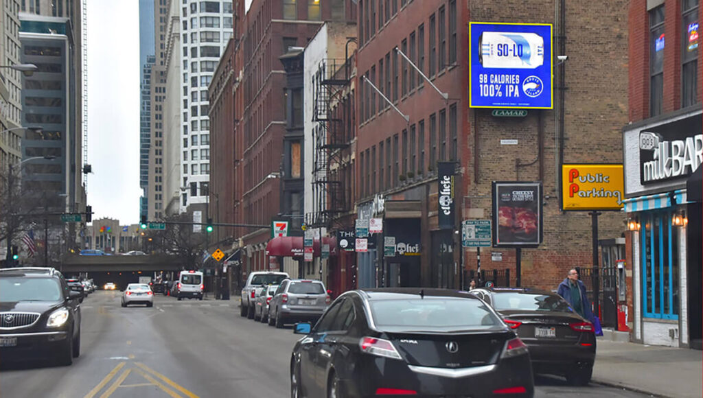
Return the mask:
M187 4L186 4L187 3ZM183 0L181 6L181 212L207 203L210 173L207 86L232 35L231 1Z

